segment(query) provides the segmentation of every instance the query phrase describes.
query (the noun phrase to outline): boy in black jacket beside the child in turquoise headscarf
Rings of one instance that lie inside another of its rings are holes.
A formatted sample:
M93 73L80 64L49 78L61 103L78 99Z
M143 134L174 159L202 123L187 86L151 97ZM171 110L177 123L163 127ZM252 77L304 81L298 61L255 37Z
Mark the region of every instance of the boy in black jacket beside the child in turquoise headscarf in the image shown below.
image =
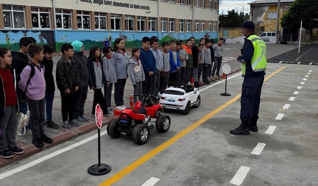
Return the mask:
M62 58L56 64L56 85L61 93L62 120L64 128L79 126L74 120L75 92L79 90L79 69L73 59L74 47L64 44L61 47Z

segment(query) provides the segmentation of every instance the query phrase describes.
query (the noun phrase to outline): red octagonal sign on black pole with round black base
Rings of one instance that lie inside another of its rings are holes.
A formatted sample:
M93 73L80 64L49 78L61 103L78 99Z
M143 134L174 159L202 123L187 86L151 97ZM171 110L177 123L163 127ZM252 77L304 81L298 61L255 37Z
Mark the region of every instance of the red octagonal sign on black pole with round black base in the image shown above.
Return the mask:
M87 169L88 174L94 176L105 175L111 170L109 165L100 163L100 127L102 125L103 118L103 110L100 108L99 104L97 104L95 107L95 119L98 127L98 164L94 164Z

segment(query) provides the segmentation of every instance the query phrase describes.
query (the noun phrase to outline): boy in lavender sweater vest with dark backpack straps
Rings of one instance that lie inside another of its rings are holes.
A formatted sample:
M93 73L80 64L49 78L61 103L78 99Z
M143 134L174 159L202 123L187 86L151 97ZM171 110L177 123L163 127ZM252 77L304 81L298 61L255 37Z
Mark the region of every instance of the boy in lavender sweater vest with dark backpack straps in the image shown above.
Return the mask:
M32 144L41 148L44 146L43 142L53 142L53 139L45 135L44 132L45 78L44 66L40 63L44 56L43 48L32 44L28 49L28 54L32 59L20 74L19 87L25 93L30 111L29 124L32 131ZM32 69L34 69L34 75L30 78Z

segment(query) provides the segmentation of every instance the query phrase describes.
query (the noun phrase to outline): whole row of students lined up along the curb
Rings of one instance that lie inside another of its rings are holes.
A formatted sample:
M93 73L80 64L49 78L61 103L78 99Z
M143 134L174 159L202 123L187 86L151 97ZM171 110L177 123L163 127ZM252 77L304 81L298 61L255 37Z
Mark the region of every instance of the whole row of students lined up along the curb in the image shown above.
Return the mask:
M63 55L56 66L62 126L77 127L79 123L88 121L84 116L88 87L94 91L91 114L95 114L95 107L99 104L104 116L108 116L113 113L113 86L115 109L126 108L124 89L129 77L134 86L135 103L141 94L160 95L168 86L189 83L191 78L194 79L194 86L209 84L215 70L219 76L222 42L221 38L212 47L213 41L201 38L199 45L195 45L195 38L191 37L185 44L182 40L162 42L161 51L157 37L144 37L142 47L133 48L130 59L127 58L122 38L115 40L113 49L91 47L88 58L83 54L82 42L64 44L61 47ZM20 39L19 46L20 49L12 54L8 49L0 48L0 87L3 87L0 89L0 129L4 133L0 139L0 157L3 158L12 157L12 153L23 153L15 142L18 112L26 114L27 110L30 111L32 144L38 148L44 146L43 142L53 142L45 134L45 124L51 128L59 127L52 121L55 93L53 49L49 45L36 45L32 38L27 37ZM217 59L212 69L212 62ZM201 74L203 82L200 80Z

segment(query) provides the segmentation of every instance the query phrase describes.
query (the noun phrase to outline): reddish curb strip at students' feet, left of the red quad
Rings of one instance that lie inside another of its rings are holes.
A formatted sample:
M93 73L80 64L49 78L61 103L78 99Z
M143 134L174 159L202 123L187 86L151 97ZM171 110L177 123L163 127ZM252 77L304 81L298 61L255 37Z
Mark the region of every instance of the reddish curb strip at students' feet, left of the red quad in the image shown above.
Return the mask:
M103 126L106 125L111 120L116 119L116 118L118 118L118 117L117 116L110 116L110 117L105 118L104 121L103 121ZM0 168L4 167L6 165L9 165L9 164L11 164L11 163L13 163L15 161L27 158L27 157L29 157L29 156L37 153L37 152L40 152L41 150L45 150L47 148L56 146L56 145L58 145L58 144L60 144L60 143L62 143L64 141L67 141L67 140L69 140L71 138L79 136L79 135L81 135L83 133L92 131L94 129L97 129L95 122L94 123L90 123L90 124L80 125L79 127L73 127L71 129L69 129L69 131L66 132L66 133L63 133L61 135L53 136L54 142L51 143L51 144L44 143L45 145L44 145L43 148L36 148L33 144L27 145L27 147L23 148L23 150L24 150L23 154L20 154L20 155L13 154L13 157L9 158L9 159L0 158Z

